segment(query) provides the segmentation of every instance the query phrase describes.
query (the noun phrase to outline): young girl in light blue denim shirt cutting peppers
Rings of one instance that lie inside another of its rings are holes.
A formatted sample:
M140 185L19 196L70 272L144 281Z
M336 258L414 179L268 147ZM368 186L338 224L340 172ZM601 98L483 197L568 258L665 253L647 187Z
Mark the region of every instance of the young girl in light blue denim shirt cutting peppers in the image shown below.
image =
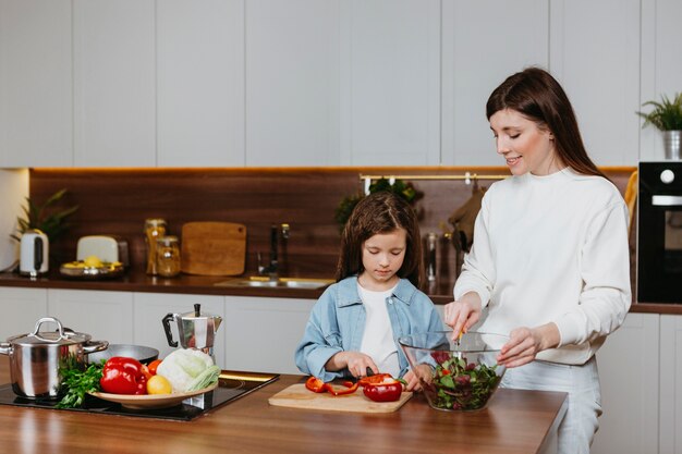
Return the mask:
M324 381L391 373L418 389L398 339L439 331L431 300L417 290L424 274L416 214L382 192L363 198L341 238L337 283L320 296L296 348L296 366Z

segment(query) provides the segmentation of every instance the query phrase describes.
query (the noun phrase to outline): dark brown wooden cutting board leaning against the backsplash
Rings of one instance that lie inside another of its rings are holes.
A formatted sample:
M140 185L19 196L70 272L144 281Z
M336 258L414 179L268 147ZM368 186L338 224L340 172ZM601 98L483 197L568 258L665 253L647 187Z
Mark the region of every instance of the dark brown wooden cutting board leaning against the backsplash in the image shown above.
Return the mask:
M244 272L245 259L245 225L233 222L187 222L182 225L183 272L238 275Z

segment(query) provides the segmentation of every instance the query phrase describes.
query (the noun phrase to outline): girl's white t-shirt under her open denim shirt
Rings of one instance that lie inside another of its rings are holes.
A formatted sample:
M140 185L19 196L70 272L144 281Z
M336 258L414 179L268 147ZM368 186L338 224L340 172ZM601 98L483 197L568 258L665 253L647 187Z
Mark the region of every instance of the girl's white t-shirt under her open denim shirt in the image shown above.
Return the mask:
M398 348L393 341L393 328L386 307L386 298L393 294L394 289L373 292L357 284L357 293L363 300L367 316L360 351L374 359L379 372L398 377L400 375Z

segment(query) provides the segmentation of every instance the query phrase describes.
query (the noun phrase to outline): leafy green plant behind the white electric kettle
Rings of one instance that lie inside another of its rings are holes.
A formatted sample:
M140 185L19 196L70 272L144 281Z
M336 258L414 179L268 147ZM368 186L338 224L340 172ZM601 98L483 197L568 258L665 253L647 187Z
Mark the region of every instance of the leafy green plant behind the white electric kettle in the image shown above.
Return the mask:
M78 209L77 206L64 209L56 207L65 194L65 188L60 189L48 197L42 205L37 205L26 197L26 205L22 207L24 217L16 218L19 234L11 234L10 236L21 241L21 234L32 229L38 229L45 233L50 243L61 236L70 226L66 218Z

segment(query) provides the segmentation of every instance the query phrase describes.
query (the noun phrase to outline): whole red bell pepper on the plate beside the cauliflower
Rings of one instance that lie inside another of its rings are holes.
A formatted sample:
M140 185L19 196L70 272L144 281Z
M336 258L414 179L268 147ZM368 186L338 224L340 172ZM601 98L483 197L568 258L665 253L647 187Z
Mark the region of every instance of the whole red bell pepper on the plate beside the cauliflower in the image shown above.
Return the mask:
M105 363L99 385L112 394L146 394L149 376L137 359L114 356Z

